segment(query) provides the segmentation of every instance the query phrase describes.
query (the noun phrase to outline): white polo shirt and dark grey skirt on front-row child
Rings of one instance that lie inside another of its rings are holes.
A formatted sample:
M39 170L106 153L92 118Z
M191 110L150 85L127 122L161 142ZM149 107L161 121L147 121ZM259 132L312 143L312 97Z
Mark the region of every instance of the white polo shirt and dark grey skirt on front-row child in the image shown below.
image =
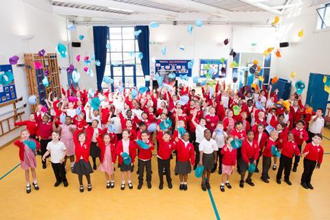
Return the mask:
M218 151L217 142L214 139L206 140L203 138L199 143L199 152L203 151L204 170L212 170L214 167L214 151Z

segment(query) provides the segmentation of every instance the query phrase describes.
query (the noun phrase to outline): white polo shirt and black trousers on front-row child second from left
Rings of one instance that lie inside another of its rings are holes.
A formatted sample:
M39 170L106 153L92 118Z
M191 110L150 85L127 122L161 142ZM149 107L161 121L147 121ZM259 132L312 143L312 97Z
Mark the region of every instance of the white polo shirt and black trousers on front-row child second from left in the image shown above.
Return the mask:
M60 160L63 157L63 152L67 148L63 142L58 141L57 143L49 142L47 144L47 151L50 151L50 162L57 182L66 182L67 177L65 176L65 164L61 163Z

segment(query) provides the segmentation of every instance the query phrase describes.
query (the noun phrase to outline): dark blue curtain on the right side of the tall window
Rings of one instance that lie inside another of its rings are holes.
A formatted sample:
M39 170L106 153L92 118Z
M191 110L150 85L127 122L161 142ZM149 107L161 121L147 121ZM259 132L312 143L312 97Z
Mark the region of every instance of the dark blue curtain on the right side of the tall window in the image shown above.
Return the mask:
M149 27L148 26L136 26L135 31L141 30L139 36L137 36L137 43L139 45L139 50L143 54L141 60L142 71L144 76L150 75L150 65L149 65ZM149 87L150 82L146 82L146 87Z

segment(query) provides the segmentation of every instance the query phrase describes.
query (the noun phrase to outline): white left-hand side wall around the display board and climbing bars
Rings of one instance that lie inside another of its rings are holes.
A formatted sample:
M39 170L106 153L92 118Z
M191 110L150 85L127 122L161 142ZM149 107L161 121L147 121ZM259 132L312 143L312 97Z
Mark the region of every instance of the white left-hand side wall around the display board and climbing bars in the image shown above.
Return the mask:
M24 53L36 53L41 49L45 49L46 52L55 52L58 42L67 41L66 21L63 17L53 14L45 1L34 1L38 8L24 2L21 0L0 1L1 65L9 64L8 59L14 55L20 57L19 63L24 63ZM19 35L26 34L34 35L34 39L22 41ZM63 67L67 66L67 60L59 58L59 65ZM17 97L23 96L23 101L18 105L21 106L28 100L27 77L25 76L24 67L12 65L12 70ZM61 74L61 83L67 83L66 78L67 76L63 72ZM1 112L9 110L12 110L11 104L8 107L1 108ZM23 118L26 119L29 115L30 108L27 107L25 108ZM0 119L5 117L8 117L8 115L4 115ZM0 146L18 135L19 129L0 137Z

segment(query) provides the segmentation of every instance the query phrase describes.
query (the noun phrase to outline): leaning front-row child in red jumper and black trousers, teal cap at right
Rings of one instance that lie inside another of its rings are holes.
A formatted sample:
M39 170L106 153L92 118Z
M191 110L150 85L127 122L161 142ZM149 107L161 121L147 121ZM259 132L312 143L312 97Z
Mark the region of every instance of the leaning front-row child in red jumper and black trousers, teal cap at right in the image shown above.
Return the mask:
M268 138L267 144L263 149L263 173L261 175L261 180L266 184L269 184L270 181L268 170L270 170L270 164L272 163L272 146L276 146L276 140L278 139L278 132L271 131L270 138Z

